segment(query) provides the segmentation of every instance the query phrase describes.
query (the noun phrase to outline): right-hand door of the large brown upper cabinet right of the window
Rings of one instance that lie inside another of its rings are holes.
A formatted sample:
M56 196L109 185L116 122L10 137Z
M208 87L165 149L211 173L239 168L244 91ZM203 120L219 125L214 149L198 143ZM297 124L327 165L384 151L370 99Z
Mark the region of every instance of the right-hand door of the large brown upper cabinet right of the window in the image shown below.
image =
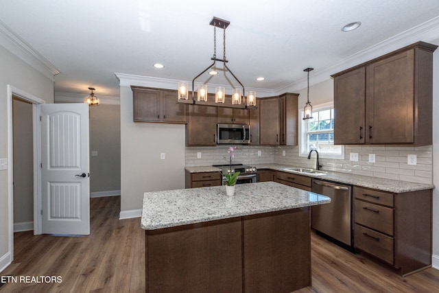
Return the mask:
M366 77L368 141L413 143L414 50L368 65Z

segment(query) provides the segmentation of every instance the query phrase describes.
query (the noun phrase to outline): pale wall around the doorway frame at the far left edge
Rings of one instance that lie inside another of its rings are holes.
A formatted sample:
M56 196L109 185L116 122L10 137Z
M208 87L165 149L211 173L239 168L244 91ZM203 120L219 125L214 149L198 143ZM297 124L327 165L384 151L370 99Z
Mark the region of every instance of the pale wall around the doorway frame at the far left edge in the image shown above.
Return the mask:
M8 84L51 103L54 101L54 82L2 45L0 42L0 158L4 159L8 158ZM12 217L8 212L8 185L12 185L8 181L8 170L0 171L0 271L11 259L9 228Z

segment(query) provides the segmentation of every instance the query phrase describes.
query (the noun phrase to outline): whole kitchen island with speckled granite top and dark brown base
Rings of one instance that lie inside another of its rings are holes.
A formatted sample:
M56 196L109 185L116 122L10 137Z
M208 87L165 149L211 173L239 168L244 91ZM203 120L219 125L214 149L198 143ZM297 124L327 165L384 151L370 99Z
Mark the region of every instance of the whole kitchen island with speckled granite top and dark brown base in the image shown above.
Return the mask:
M309 207L274 182L146 192L146 292L292 292L311 285Z

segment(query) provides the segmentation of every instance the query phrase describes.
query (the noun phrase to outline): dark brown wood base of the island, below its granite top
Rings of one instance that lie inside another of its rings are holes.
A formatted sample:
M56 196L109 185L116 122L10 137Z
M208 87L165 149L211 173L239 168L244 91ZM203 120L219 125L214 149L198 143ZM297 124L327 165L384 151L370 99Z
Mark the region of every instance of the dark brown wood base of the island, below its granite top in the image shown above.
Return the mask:
M146 292L293 292L311 285L309 208L145 231Z

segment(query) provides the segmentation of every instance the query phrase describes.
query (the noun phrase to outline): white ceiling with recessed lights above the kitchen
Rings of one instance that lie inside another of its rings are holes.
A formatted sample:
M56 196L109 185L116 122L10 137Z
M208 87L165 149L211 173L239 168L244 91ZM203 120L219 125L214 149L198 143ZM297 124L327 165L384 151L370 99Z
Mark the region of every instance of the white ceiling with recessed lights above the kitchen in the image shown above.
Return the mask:
M439 5L437 0L0 2L0 21L60 71L56 92L86 94L93 86L98 96L119 96L115 73L191 82L211 64L213 16L230 21L228 67L246 89L275 91L306 78L307 67L315 69L311 80L321 69L435 19ZM353 21L361 21L357 30L341 31ZM217 29L218 58L222 33ZM156 62L165 68L155 69ZM265 80L257 82L259 76ZM206 73L197 81L208 79Z

